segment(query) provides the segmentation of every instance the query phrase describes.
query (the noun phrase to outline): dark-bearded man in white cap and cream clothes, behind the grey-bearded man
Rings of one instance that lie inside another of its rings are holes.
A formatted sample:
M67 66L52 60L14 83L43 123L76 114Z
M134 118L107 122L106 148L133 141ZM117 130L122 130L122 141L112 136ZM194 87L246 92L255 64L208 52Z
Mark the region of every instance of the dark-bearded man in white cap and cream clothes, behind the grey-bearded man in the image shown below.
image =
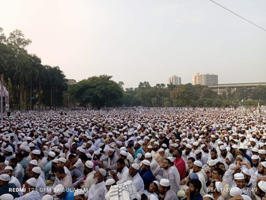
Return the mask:
M84 176L86 176L86 180L81 180L79 182L79 186L81 186L83 190L87 191L91 187L93 176L95 173L95 171L92 168L93 168L93 162L91 162L90 160L86 161L83 170L83 174Z

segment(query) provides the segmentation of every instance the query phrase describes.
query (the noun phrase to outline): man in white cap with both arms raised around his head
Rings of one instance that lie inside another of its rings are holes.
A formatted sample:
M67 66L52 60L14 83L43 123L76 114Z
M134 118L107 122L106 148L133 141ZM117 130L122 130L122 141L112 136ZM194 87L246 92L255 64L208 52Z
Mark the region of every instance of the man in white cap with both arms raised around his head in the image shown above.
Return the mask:
M234 180L232 180L232 174L235 172L235 170L240 169L242 165L246 165L248 168L247 172L250 174L250 180L249 183L245 183L245 176L243 173L235 173ZM251 166L248 164L248 162L236 162L236 166L232 169L228 169L225 174L226 182L229 184L229 186L232 187L238 187L242 190L242 192L245 195L250 196L251 195L251 189L255 187L257 176L254 172L254 170L251 168Z

